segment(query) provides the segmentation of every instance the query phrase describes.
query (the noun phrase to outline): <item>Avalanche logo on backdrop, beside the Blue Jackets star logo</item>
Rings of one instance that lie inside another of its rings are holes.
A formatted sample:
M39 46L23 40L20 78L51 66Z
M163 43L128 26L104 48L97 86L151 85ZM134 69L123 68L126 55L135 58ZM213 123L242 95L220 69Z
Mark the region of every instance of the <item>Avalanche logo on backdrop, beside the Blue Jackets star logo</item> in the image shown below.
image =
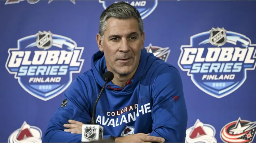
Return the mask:
M199 119L194 126L186 130L185 143L217 143L216 130L210 124L204 124Z

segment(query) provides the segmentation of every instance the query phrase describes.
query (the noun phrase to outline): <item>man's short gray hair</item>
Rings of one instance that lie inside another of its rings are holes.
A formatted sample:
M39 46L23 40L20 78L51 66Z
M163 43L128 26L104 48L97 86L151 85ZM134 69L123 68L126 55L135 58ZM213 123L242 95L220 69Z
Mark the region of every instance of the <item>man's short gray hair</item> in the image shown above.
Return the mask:
M101 41L103 40L104 32L107 30L107 20L109 18L116 19L137 19L140 34L143 33L143 21L139 14L139 11L132 5L126 2L112 3L106 10L104 10L100 16L100 28L99 34Z

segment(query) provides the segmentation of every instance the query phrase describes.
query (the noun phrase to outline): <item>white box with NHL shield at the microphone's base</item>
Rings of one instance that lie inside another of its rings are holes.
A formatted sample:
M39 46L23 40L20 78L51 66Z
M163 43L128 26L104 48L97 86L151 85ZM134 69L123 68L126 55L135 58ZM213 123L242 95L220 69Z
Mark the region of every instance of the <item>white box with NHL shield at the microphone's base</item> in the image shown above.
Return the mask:
M82 128L82 142L98 141L103 138L103 127L100 125L83 124Z

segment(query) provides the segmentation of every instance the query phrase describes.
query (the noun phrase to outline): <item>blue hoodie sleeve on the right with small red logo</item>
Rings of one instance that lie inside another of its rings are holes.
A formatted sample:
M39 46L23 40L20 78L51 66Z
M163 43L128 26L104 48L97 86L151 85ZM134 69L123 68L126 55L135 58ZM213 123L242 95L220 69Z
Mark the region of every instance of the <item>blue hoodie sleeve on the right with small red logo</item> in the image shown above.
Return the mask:
M185 142L188 113L182 80L174 67L163 69L152 88L153 131L149 135L163 137L165 142Z

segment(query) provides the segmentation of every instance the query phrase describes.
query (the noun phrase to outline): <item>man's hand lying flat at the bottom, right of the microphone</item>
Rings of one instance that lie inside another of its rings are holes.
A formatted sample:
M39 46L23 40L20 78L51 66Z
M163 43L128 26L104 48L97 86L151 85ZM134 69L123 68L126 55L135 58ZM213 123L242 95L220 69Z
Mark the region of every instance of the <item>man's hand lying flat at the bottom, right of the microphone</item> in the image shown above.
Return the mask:
M122 142L136 142L136 143L147 143L147 142L158 142L163 143L165 142L164 138L156 137L156 136L149 136L149 134L138 133L138 134L129 134L122 137L117 137L115 142L122 143Z

